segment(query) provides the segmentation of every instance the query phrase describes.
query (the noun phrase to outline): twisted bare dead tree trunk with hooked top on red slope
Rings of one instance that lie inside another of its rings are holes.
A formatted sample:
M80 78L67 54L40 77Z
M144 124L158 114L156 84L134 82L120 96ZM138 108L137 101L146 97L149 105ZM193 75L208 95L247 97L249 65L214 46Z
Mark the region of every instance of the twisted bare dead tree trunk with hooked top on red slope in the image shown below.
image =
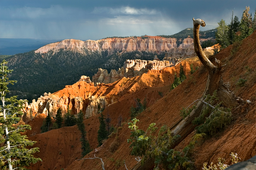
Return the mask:
M205 53L202 50L199 40L199 28L200 26L205 27L205 22L202 19L194 19L193 18L193 35L194 35L194 49L195 52L204 65L204 67L208 70L208 79L205 87L204 94L198 100L199 102L196 104L196 107L191 111L188 117L185 119L180 119L172 129L172 135L180 135L179 140L172 146L174 148L177 146L185 137L187 137L196 127L193 125L192 121L198 117L202 111L203 106L205 105L205 96L208 94L213 95L213 92L217 90L217 97L222 104L226 107L235 106L237 104L234 95L228 89L228 86L223 83L221 76L221 68L223 67L221 62L215 58L216 66L205 56ZM207 103L208 104L208 103ZM143 166L138 167L138 165L134 166L132 170L149 170L154 167L154 160L147 160Z

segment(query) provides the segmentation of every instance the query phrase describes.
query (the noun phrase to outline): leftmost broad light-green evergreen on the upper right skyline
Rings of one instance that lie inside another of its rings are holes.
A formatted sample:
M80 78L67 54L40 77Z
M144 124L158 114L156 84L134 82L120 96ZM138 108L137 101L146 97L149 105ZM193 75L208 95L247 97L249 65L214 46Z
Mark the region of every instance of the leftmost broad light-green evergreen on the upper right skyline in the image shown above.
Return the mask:
M222 46L222 48L226 48L230 44L228 38L228 26L223 19L221 19L218 24L219 26L216 28L217 32L215 33L216 41Z

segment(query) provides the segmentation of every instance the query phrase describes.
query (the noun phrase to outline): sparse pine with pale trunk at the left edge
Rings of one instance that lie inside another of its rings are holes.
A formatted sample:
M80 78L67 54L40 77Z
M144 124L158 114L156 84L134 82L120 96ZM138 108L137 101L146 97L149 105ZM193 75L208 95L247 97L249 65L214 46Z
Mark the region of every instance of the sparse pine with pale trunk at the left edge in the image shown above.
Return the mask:
M6 61L3 60L0 66L0 96L1 106L0 112L0 169L22 169L26 170L24 166L30 166L31 163L41 161L40 158L34 158L33 153L39 152L39 148L27 149L27 146L33 146L35 141L27 139L26 135L21 135L26 129L31 130L29 125L19 125L17 128L12 126L20 121L22 104L24 101L17 100L17 96L6 98L9 92L7 85L16 83L16 81L9 80L7 74L12 70L8 70L5 66Z

